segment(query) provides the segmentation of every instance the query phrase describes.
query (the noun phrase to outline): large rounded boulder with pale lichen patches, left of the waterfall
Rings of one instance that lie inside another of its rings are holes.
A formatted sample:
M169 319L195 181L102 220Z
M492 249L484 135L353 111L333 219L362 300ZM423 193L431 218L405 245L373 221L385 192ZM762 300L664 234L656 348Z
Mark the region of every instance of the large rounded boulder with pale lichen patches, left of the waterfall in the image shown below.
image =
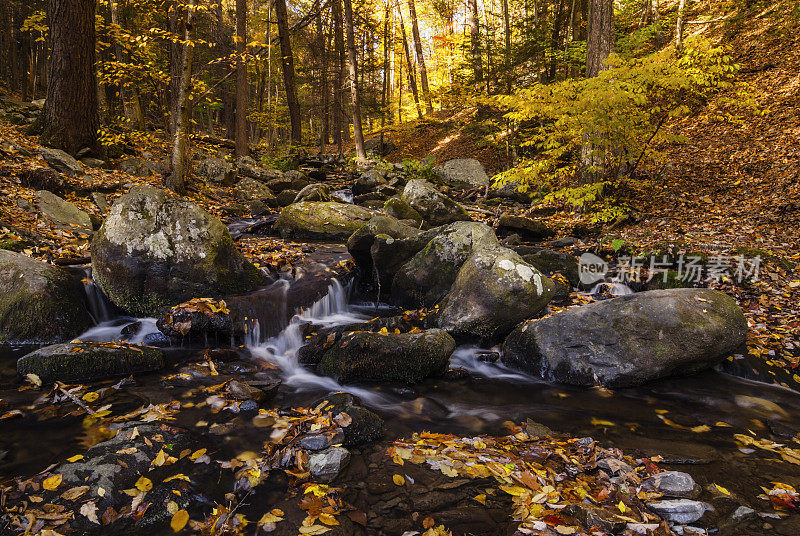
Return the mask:
M221 221L150 186L132 188L111 208L92 242L92 266L111 301L136 316L265 282Z

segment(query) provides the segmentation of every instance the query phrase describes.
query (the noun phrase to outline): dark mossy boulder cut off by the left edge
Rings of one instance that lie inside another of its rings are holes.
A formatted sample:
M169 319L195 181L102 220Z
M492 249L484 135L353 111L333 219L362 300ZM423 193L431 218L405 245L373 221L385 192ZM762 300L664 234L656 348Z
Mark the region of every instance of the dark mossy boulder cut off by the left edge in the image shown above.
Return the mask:
M60 342L92 324L77 278L63 268L0 250L0 342Z

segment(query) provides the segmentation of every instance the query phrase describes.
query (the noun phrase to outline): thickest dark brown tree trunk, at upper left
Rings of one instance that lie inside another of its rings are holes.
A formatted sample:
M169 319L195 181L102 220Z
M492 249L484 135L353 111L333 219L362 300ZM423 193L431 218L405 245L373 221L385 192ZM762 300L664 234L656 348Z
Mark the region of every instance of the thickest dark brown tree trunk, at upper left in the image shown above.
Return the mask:
M42 145L97 150L94 0L48 0L50 64Z

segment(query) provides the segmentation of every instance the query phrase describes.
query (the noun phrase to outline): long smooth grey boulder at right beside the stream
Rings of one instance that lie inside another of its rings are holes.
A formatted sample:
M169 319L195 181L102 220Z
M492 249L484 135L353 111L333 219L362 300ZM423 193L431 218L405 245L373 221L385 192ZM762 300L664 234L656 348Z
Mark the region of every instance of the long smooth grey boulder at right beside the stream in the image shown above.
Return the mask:
M652 290L517 326L503 361L574 385L623 387L713 367L745 343L736 301L708 289Z

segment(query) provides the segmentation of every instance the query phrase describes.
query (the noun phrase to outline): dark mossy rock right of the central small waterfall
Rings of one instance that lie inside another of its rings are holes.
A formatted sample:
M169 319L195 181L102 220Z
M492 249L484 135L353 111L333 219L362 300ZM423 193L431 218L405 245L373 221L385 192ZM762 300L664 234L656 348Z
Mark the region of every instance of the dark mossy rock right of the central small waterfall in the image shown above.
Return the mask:
M443 372L455 350L438 329L418 333L346 333L322 355L319 369L339 381L418 383Z

